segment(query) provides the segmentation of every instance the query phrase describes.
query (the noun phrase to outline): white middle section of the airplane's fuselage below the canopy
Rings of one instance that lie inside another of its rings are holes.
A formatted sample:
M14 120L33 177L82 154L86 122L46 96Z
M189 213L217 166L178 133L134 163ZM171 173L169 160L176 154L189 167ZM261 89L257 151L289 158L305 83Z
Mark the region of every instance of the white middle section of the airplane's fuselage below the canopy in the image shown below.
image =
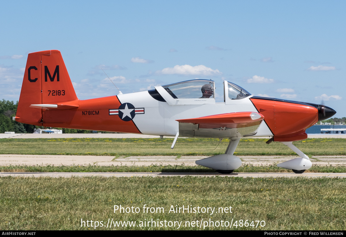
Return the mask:
M183 99L176 99L178 102L170 105L168 102L157 101L147 91L118 95L121 103L131 103L136 108L145 108L144 114L138 114L133 118L141 133L165 136L175 136L179 130L179 122L176 120L179 119L235 112L257 112L249 99L251 97L226 102L204 99L206 104L202 99L189 99L190 102L179 104ZM197 100L198 104L192 104L194 100ZM263 122L253 136L273 136L273 134Z

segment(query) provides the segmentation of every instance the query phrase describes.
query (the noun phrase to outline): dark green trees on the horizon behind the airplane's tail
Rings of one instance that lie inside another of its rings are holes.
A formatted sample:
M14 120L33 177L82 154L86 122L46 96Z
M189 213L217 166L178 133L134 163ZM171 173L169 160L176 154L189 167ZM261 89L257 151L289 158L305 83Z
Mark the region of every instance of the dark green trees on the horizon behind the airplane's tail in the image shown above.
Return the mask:
M18 123L13 121L12 117L16 116L18 107L13 101L0 101L0 133L15 132L15 133L33 133L35 129L43 129L43 126L35 126L30 124ZM62 128L56 128L62 129ZM62 129L63 133L92 133L90 130L82 129ZM102 132L106 133L106 132Z

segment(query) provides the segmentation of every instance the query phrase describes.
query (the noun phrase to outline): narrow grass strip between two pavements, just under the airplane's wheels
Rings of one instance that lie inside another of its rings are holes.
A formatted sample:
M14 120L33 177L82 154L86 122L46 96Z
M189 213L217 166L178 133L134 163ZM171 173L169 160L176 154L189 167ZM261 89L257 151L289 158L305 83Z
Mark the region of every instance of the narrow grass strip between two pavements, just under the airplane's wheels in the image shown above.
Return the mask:
M162 165L152 164L149 166L126 166L126 165L9 165L0 166L0 172L216 172L203 166L186 166L182 165ZM243 164L240 168L234 171L235 173L287 173L292 170L283 169L276 165L252 165ZM306 173L346 173L345 165L312 165L312 167L305 171Z

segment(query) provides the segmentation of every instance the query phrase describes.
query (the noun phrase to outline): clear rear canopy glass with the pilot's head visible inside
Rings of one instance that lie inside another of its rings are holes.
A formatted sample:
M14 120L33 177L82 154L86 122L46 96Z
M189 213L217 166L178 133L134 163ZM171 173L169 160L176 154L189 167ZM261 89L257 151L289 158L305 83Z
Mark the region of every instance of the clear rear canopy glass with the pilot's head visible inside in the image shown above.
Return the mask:
M215 98L215 85L212 80L188 80L162 86L173 98Z

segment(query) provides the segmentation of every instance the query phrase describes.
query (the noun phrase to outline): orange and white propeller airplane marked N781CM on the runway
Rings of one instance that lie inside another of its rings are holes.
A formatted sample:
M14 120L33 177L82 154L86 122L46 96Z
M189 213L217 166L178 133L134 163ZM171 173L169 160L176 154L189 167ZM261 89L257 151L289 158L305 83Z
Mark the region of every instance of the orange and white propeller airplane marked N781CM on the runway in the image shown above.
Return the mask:
M18 103L17 122L180 137L229 138L225 154L196 161L231 173L242 161L234 151L243 137L270 136L301 158L277 166L303 173L311 161L292 141L307 138L305 130L336 111L324 105L253 96L242 87L224 82L224 102L215 102L215 82L187 80L155 86L149 91L79 100L60 51L28 55Z

